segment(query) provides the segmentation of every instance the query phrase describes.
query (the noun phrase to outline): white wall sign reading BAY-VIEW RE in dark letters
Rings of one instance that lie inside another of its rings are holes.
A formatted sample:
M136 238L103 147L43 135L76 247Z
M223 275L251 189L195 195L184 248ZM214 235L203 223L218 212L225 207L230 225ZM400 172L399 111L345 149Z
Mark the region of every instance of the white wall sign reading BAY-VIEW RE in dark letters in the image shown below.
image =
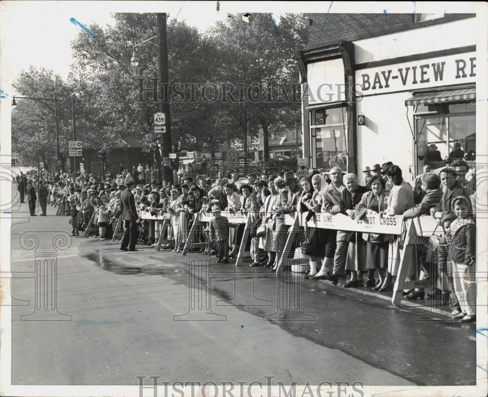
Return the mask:
M447 55L356 71L356 90L363 95L474 83L476 53Z

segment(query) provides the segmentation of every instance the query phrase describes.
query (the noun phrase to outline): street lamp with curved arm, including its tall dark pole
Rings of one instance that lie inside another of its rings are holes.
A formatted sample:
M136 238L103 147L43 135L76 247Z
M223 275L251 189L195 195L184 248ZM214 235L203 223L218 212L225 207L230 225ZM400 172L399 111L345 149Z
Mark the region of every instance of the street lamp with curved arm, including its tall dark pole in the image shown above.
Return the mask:
M151 44L155 45L159 49L159 78L160 78L160 86L159 86L159 94L161 95L162 101L160 105L161 111L166 116L166 132L163 133L163 158L168 158L169 153L172 151L172 142L171 142L171 109L169 106L169 95L163 93L163 87L169 86L169 69L168 69L168 43L167 43L167 31L166 31L166 13L158 13L158 34L153 36L139 44L134 45L132 58L130 59L130 63L132 66L137 67L139 66L139 57L136 54L136 47L144 44L146 42L150 42ZM155 44L151 40L158 38L158 44ZM163 178L167 181L173 181L173 170L171 167L164 166L163 167Z

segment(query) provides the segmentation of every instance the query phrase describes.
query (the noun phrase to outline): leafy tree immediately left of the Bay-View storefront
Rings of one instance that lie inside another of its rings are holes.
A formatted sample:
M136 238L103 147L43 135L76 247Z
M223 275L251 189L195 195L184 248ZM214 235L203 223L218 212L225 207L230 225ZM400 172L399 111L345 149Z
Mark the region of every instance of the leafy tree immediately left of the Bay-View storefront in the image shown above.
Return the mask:
M255 136L260 127L264 158L267 158L269 129L283 123L294 127L300 119L300 101L290 101L292 98L287 98L286 94L293 95L293 84L298 88L298 72L292 54L295 49L305 47L305 16L285 14L278 26L270 14L255 14L249 24L242 21L239 14L230 21L217 23L210 34L221 55L220 81L245 87L239 101L227 106L230 118L240 127L244 151L247 151L249 138ZM294 97L299 99L299 93Z

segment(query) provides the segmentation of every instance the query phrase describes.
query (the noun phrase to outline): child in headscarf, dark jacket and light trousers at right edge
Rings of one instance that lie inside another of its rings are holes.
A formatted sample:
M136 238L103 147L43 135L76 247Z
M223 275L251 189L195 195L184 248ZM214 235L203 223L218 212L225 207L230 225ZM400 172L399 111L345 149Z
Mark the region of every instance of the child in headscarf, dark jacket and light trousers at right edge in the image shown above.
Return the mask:
M452 203L456 219L445 219L444 226L452 257L454 292L461 306L461 311L452 315L461 322L470 322L476 317L476 224L464 196L454 198Z

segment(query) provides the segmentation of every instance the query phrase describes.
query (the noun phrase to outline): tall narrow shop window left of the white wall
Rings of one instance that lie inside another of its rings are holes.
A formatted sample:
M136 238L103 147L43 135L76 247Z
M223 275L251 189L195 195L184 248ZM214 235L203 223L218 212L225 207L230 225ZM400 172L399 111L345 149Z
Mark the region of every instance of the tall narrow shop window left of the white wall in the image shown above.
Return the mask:
M310 132L315 146L315 167L347 170L347 125L343 107L311 111Z

